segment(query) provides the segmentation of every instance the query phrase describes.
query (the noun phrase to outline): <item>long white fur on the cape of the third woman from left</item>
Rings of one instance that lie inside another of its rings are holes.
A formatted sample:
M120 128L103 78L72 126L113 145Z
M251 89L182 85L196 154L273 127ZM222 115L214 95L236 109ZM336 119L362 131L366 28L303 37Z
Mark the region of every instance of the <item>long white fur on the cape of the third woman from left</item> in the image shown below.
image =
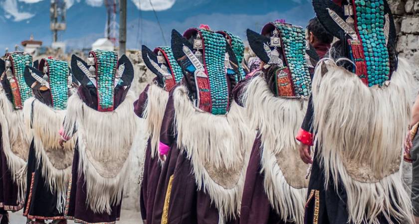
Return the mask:
M124 102L113 112L97 112L90 109L83 105L78 95L73 95L69 102L76 104L69 105L66 117L73 119L67 126L70 127L68 130L77 130L80 155L78 170L79 175L83 172L85 177L86 204L94 213L110 214L111 207L122 201L124 183L131 170L130 156L141 147L140 143L144 140L140 136L140 118L134 113L134 96L129 92ZM126 125L123 126L123 123ZM87 150L92 152L94 158L121 160L122 167L119 167L116 175L104 177L88 158Z

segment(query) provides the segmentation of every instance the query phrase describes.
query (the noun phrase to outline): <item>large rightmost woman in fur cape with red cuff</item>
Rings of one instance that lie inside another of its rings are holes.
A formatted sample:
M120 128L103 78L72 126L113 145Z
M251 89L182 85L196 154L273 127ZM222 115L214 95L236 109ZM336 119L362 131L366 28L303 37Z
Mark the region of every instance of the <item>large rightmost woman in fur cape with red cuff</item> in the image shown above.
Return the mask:
M413 224L401 167L413 81L397 56L390 7L386 0L313 6L339 41L315 70L314 113L303 123L312 120L313 131L297 136L302 160L312 163L305 223Z

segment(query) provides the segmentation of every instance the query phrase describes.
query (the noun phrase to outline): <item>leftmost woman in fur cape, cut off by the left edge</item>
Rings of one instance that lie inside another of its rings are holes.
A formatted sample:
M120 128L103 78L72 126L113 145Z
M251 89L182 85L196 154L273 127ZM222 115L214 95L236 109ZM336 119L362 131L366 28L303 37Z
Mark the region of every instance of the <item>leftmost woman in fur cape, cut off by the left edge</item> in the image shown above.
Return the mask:
M32 56L9 52L0 59L0 223L8 223L7 211L23 208L25 166L29 137L23 121L23 102L32 96L23 72Z

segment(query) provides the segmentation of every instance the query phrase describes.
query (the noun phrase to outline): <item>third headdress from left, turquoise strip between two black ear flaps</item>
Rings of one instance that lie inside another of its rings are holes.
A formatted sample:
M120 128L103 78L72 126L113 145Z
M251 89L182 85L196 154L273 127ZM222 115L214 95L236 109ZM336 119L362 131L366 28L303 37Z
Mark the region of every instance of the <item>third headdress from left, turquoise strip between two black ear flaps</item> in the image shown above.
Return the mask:
M95 89L100 112L113 111L115 90L128 91L134 78L130 60L125 55L118 60L114 51L91 51L87 62L73 55L71 70L82 87Z

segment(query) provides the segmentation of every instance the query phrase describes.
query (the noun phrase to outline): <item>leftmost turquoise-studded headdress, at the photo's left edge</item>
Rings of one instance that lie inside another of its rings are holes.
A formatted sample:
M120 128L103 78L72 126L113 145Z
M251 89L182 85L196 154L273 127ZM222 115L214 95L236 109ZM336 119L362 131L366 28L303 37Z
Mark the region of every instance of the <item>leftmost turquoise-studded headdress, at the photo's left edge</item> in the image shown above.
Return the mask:
M23 77L25 66L32 65L32 56L24 52L7 53L4 57L5 72L1 77L7 80L14 109L23 108L23 102L32 96L32 90L26 85Z

